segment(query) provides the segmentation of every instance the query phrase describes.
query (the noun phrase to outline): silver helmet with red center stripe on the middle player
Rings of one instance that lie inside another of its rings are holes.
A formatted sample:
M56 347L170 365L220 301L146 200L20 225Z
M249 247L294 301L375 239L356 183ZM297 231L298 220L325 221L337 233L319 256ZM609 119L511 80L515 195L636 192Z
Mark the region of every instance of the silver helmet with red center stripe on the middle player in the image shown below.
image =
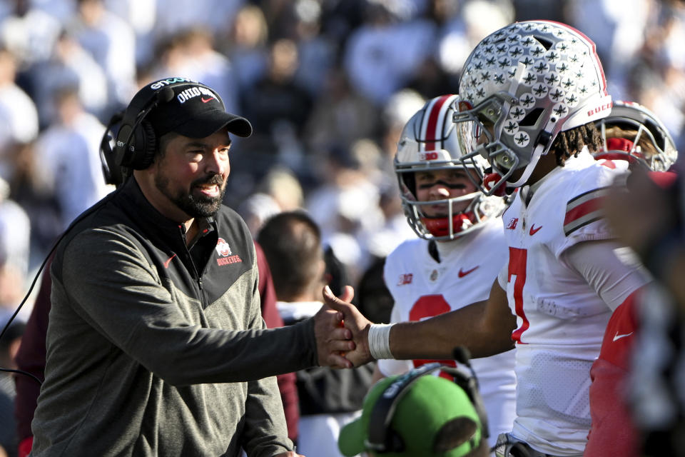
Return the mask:
M472 129L462 136L452 118L457 110L459 97L443 95L430 99L407 121L395 155L395 173L400 184L400 198L407 221L418 236L438 241L451 240L479 228L489 217L500 214L504 202L499 197L486 197L480 191L444 200L417 201L415 172L450 168L477 169L482 176L487 161L475 157L468 164L461 161L464 151L471 151L474 144ZM465 211L453 213L457 202L470 201ZM427 217L422 206L445 204L449 213L445 217Z

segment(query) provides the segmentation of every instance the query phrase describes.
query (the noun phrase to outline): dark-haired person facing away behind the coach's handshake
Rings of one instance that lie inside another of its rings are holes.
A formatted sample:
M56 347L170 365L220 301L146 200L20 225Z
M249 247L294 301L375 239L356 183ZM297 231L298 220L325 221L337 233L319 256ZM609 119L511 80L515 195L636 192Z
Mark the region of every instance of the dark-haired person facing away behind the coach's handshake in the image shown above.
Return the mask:
M316 223L303 211L283 212L266 221L258 242L273 275L283 321L290 325L313 316L323 305L321 291L328 283ZM368 366L351 370L315 367L296 373L299 453L340 456L336 446L340 427L358 415L371 374Z

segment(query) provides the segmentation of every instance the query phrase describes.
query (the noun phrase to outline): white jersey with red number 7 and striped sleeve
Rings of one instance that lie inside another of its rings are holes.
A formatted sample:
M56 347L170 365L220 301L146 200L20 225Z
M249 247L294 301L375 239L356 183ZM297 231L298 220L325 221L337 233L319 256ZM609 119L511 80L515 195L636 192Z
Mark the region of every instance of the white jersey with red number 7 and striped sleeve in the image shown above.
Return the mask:
M626 165L597 162L586 149L545 176L527 205L519 189L502 215L509 263L499 284L517 316L513 433L544 453L579 455L587 442L589 370L612 309L561 256L613 238L601 201Z

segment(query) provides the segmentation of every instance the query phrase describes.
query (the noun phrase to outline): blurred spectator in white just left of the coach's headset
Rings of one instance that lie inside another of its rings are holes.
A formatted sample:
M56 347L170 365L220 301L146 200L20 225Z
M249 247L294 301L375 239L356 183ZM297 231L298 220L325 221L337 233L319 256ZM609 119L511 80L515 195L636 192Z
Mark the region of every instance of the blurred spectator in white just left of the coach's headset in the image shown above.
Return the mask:
M76 89L57 92L58 119L36 143L39 183L56 195L61 228L110 190L102 178L100 141L105 127L83 111Z

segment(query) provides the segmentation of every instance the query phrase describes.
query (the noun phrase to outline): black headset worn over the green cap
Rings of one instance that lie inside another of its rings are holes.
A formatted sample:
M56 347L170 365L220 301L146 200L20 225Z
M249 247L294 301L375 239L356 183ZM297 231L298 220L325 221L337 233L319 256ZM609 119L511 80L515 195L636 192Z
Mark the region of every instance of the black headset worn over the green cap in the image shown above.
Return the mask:
M433 371L442 370L454 378L457 386L460 386L469 397L481 426L481 440L489 436L487 414L478 390L478 379L469 361L470 354L466 348L458 346L452 354L455 360L468 368L468 372L457 367L443 365L439 362L426 363L425 365L410 371L397 381L390 383L376 401L369 416L369 435L365 440L365 446L375 453L402 452L405 451L405 443L390 423L395 415L395 409L400 400L407 392L409 386L418 378Z

